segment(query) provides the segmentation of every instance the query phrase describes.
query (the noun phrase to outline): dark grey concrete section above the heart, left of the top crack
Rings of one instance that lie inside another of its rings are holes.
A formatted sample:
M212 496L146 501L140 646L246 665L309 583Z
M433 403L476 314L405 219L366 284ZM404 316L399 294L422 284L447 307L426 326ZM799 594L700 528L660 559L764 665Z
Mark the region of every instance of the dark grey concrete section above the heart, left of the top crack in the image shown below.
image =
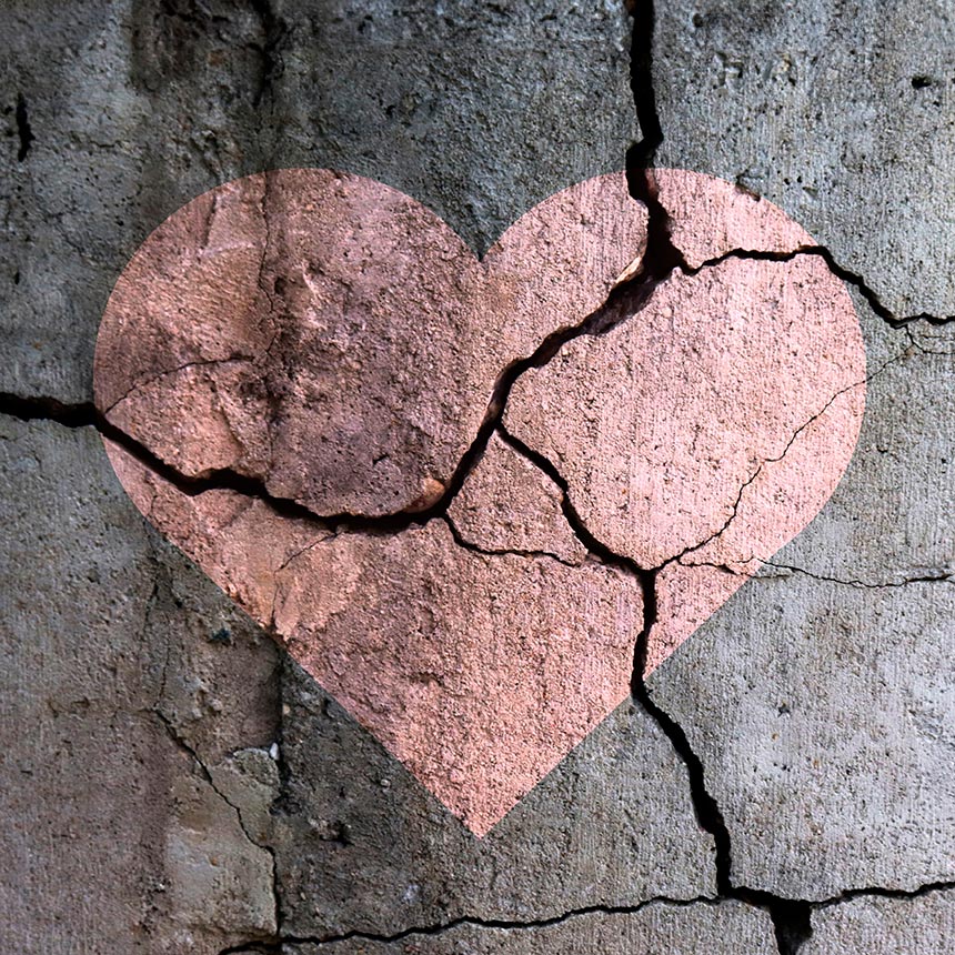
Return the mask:
M0 18L0 391L88 400L119 272L222 182L368 175L483 251L547 195L622 168L635 135L615 2L12 0Z

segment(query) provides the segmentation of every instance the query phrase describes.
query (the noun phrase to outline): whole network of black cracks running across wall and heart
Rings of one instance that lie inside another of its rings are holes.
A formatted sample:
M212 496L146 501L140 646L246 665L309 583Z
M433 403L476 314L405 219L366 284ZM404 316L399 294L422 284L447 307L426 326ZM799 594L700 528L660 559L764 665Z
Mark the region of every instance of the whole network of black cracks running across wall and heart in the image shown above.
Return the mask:
M260 52L262 57L262 76L260 87L255 96L255 103L271 92L273 79L280 74L281 60L278 57L278 50L285 34L284 23L275 17L269 0L252 0L253 9L259 16L262 23L263 33L265 37ZM395 514L384 517L369 519L354 514L332 514L320 515L312 512L309 507L300 502L291 499L279 497L272 495L264 483L245 475L238 474L228 469L213 471L198 478L188 478L182 475L174 469L170 468L165 462L161 461L149 449L135 441L132 436L118 429L108 421L105 414L101 413L92 403L80 404L63 404L52 398L21 398L19 395L2 393L0 394L0 413L7 413L11 416L30 421L30 420L49 420L54 421L68 428L91 426L98 430L104 438L114 441L117 444L124 448L133 454L149 470L159 474L159 476L170 481L179 490L190 496L204 493L210 490L231 490L237 493L252 496L263 501L271 506L277 513L294 516L298 519L309 520L322 525L323 529L346 530L346 531L363 531L363 530L401 530L412 524L423 524L434 517L442 519L451 529L455 542L476 553L495 555L517 554L530 557L547 557L562 561L556 555L546 552L515 552L515 551L485 551L471 542L466 541L454 525L454 522L448 515L448 507L452 500L460 491L464 480L471 473L473 468L480 461L490 436L495 431L501 438L515 451L523 454L527 460L539 466L551 480L553 480L562 490L562 510L567 519L575 535L581 540L587 551L597 560L604 563L614 565L630 574L639 582L644 595L644 622L641 633L637 636L634 646L634 666L631 681L631 693L636 702L639 702L644 711L656 722L661 731L670 740L674 752L681 758L687 772L691 798L694 805L694 811L700 825L710 833L714 840L715 846L715 865L716 865L716 884L717 896L697 897L693 899L673 899L667 897L654 897L643 901L632 906L589 906L577 909L571 909L559 916L547 919L531 921L531 922L507 922L480 919L476 917L461 917L435 926L416 926L403 929L393 935L375 935L372 933L349 932L338 936L326 937L296 937L291 935L277 935L274 938L252 939L238 946L232 946L222 951L221 955L240 952L279 952L284 944L329 944L345 939L366 939L378 942L398 942L408 938L412 935L435 935L446 932L454 927L471 925L486 928L504 928L504 929L522 929L546 927L550 925L561 924L571 918L585 916L587 914L634 914L652 905L674 905L674 906L691 906L691 905L716 905L722 901L737 899L750 905L761 907L771 915L775 932L777 946L782 955L795 955L800 946L812 934L811 912L814 908L828 907L838 905L852 898L863 896L877 896L891 898L912 898L918 895L924 895L931 892L941 892L955 888L955 883L931 883L921 886L912 892L896 891L882 887L857 888L846 891L838 896L825 899L821 903L811 903L803 899L787 899L771 893L760 889L751 889L745 886L735 886L732 882L732 841L728 827L722 816L722 812L716 800L707 791L705 785L705 767L702 758L692 747L688 737L683 727L666 713L654 700L650 693L645 678L645 663L647 655L649 637L652 627L656 623L656 574L657 569L643 569L635 562L613 553L602 542L597 541L590 531L585 527L576 513L569 495L567 484L557 473L554 465L535 452L527 448L519 439L511 435L503 425L503 413L510 396L511 390L517 379L532 368L541 368L546 364L565 344L575 338L582 335L603 334L619 325L621 322L631 319L650 301L654 290L665 281L673 272L680 271L687 275L695 275L705 268L713 268L721 262L731 258L740 259L756 259L764 261L787 262L800 255L817 255L822 258L827 268L841 280L853 285L860 294L868 303L872 311L882 320L886 321L893 328L901 328L917 321L925 321L929 324L941 325L955 321L955 316L936 316L927 313L919 313L907 316L896 316L893 314L877 298L875 292L867 285L865 280L836 262L833 254L825 247L812 245L801 247L788 252L768 252L761 250L735 249L720 257L707 260L701 265L691 268L683 257L682 252L674 245L668 227L668 213L663 208L656 183L654 181L651 167L652 160L663 142L663 131L660 123L660 118L656 113L655 94L653 88L653 29L655 22L655 11L652 0L637 0L629 3L629 8L634 20L633 42L632 42L632 62L631 62L631 81L634 94L634 103L637 112L637 120L641 125L643 139L633 145L627 152L627 181L630 183L631 194L640 202L643 202L649 211L647 223L647 248L640 269L632 278L621 283L612 290L606 302L595 312L587 315L583 321L571 328L561 329L544 339L537 349L524 359L517 360L504 369L497 378L491 401L485 413L479 432L472 442L471 446L462 456L455 469L452 481L442 499L428 511L418 514ZM27 114L26 102L22 97L18 98L17 105L17 124L20 134L20 152L18 159L24 160L30 143L33 141L29 119ZM881 370L879 370L881 371ZM877 373L877 372L876 372ZM837 395L836 395L837 396ZM835 400L834 396L832 401ZM830 404L831 404L830 402ZM826 405L828 406L828 404ZM824 411L825 409L823 409ZM822 412L820 412L822 413ZM818 415L816 415L818 416ZM811 422L810 422L811 423ZM807 423L808 424L808 423ZM807 425L805 425L807 426ZM803 429L801 429L802 431ZM793 435L792 441L797 436ZM787 450L786 449L786 450ZM784 451L785 453L785 451ZM768 463L768 462L763 462ZM745 486L755 480L761 468L756 473L743 485L740 497L742 497ZM738 500L736 502L738 506ZM736 507L734 507L735 514ZM732 520L732 517L731 517ZM727 521L728 525L728 521ZM724 529L725 530L725 526ZM722 533L722 530L718 533ZM714 535L715 536L715 535ZM705 542L704 542L705 543ZM694 547L695 549L698 549ZM677 557L671 560L678 560ZM927 575L923 577L912 577L903 582L888 584L871 584L863 581L842 581L837 579L816 575L810 571L800 567L792 567L783 564L770 564L791 572L805 573L810 576L815 576L820 580L832 580L837 583L845 583L853 586L901 586L915 582L927 581L952 581L952 574L945 575ZM164 682L164 674L163 674ZM280 680L280 707L281 707L281 687L284 682ZM272 858L272 877L273 877L273 894L275 901L275 918L277 924L281 928L281 888L278 881L278 866L275 851L268 845L262 845L253 840L248 832L244 821L242 820L241 811L234 805L214 784L209 770L205 767L202 760L199 757L194 748L180 736L173 723L159 708L155 708L157 718L163 724L170 737L187 752L200 767L203 778L209 783L212 790L235 812L239 825L242 832L249 838L250 843L257 845L268 852ZM281 722L279 724L281 726ZM281 744L280 744L281 754ZM280 755L280 788L279 800L286 792L285 781L289 776L288 766L283 766L283 761Z

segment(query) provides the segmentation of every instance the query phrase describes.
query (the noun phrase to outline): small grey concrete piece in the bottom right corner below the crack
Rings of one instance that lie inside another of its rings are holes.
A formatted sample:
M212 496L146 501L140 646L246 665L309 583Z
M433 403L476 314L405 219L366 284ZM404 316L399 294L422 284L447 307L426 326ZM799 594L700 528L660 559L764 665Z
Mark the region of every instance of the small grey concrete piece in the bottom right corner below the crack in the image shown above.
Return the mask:
M853 898L813 913L813 937L800 955L947 955L953 936L953 892L916 898Z

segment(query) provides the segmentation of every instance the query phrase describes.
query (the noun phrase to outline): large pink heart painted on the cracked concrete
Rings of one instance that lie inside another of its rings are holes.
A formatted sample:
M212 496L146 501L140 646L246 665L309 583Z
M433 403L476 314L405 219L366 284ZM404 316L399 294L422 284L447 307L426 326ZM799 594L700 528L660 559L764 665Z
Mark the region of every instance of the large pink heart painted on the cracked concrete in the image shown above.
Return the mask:
M811 238L728 183L655 177L690 268L520 375L504 416L597 540L661 567L647 671L831 496L865 391L821 258L704 265ZM479 261L386 185L261 173L162 223L100 328L137 507L478 836L627 696L643 606L516 440L455 472L502 371L634 273L646 221L602 175Z

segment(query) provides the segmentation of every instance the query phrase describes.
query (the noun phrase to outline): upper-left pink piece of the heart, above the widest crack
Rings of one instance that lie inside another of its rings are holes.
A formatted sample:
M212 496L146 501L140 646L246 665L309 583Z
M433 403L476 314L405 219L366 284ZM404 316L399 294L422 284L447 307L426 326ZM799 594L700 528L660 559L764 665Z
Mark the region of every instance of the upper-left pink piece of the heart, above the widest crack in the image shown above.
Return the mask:
M603 304L645 220L623 173L596 177L479 261L373 180L237 180L168 219L123 271L97 342L97 406L190 478L239 472L315 514L424 510L497 376Z

